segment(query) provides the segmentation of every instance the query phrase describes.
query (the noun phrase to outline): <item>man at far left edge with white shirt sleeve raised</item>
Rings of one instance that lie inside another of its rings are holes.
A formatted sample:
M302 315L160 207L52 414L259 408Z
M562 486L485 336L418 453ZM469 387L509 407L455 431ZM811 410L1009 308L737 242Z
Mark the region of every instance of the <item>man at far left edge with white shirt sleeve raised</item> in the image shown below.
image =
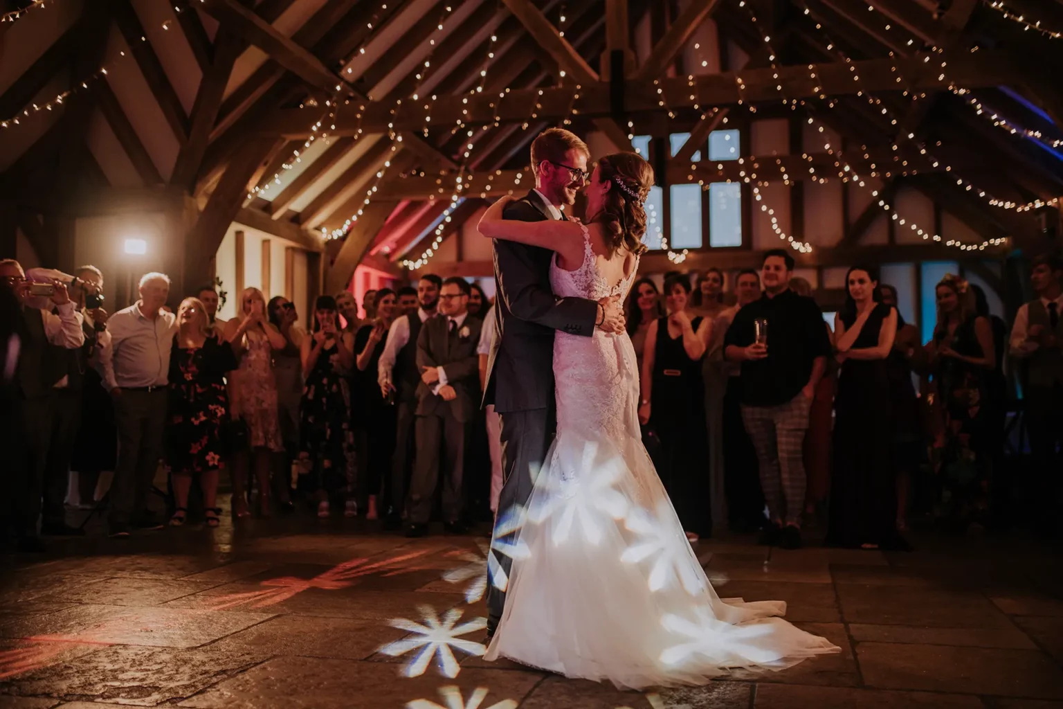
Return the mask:
M48 443L52 433L55 384L65 374L63 362L50 345L77 349L85 342L82 321L67 292L66 284L55 281L50 287L49 305L40 309L30 304L33 293L21 265L14 259L0 260L0 287L7 288L22 311L22 333L14 381L17 385L15 421L19 426L17 450L11 459L12 470L4 475L11 489L4 491L16 527L18 546L23 552L40 552L37 518L44 495Z

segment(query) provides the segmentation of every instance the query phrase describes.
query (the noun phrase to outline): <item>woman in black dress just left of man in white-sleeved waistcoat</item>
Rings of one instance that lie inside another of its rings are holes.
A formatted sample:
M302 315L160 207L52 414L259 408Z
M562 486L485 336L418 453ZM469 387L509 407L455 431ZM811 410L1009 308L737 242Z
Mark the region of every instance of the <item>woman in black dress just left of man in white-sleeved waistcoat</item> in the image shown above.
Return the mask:
M372 311L375 321L362 325L354 335L355 371L351 393L352 419L358 450L358 504L366 495L366 519L375 520L377 497L391 469L391 453L395 441L395 407L381 395L376 384L377 364L384 353L388 330L399 309L395 291L381 288L374 291Z

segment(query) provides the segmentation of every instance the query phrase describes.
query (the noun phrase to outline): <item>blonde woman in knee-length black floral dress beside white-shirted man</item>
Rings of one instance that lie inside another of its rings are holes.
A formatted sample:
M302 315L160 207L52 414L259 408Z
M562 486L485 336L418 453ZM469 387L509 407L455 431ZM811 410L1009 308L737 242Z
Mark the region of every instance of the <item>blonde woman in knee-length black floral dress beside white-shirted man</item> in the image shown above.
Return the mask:
M170 355L167 465L173 475L176 510L170 524L181 526L188 514L188 489L200 476L207 526L218 526L218 470L224 458L221 426L229 416L223 377L236 369L229 342L209 327L206 309L186 298L178 309L180 330Z

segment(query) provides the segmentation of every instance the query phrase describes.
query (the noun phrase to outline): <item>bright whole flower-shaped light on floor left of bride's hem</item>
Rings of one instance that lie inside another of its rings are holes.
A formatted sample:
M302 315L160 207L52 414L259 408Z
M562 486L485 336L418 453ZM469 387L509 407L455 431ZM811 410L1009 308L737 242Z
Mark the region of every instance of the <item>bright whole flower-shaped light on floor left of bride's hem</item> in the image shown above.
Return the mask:
M487 628L486 618L475 618L466 623L457 624L461 619L461 612L457 608L452 608L443 613L440 619L436 609L432 606L419 606L423 623L410 621L405 618L395 619L389 625L400 630L408 630L411 636L388 643L381 648L381 653L391 657L399 657L420 648L414 660L406 666L407 677L419 677L428 669L428 663L436 655L439 656L439 671L446 677L457 677L461 668L458 665L451 647L459 649L468 655L483 656L487 647L483 643L472 640L462 640L459 636L469 635L477 630Z

